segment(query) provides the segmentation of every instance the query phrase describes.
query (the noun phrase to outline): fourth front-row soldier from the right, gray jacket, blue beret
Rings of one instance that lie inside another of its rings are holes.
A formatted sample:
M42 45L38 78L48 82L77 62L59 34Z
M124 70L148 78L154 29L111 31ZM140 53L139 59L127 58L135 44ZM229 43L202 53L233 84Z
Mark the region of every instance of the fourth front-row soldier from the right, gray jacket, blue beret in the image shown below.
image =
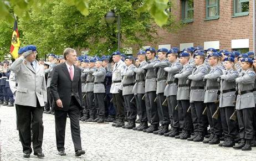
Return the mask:
M206 132L206 124L207 124L207 117L203 115L203 110L205 107L203 103L203 100L204 100L203 77L208 73L208 68L203 64L204 59L205 59L204 53L200 52L194 55L194 63L196 64L196 68L193 70L192 74L188 76L188 79L191 80L190 102L193 104L191 106L191 112L194 111L192 109L192 107L194 107L196 111L196 117L197 117L196 119L198 124L198 126L194 126L197 128L197 129L194 129L194 131L198 132L197 136L194 135L194 138L193 138L194 142L203 141L204 133ZM194 118L192 118L192 120L193 119Z

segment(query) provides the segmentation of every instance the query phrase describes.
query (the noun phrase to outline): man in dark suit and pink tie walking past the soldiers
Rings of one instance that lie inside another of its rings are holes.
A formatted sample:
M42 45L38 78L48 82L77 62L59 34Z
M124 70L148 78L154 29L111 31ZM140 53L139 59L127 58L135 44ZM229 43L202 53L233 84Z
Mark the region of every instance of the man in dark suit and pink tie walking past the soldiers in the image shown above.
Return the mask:
M69 115L71 136L75 147L75 156L85 154L81 148L79 117L82 92L81 69L74 66L76 51L66 48L63 52L65 63L53 68L50 90L54 98L55 132L59 155L66 155L64 148L66 116Z

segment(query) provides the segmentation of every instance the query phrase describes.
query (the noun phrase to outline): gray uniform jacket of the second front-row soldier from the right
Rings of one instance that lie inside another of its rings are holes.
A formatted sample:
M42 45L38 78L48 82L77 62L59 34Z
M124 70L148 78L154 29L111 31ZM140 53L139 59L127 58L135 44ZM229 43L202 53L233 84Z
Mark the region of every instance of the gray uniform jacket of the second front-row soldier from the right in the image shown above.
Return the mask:
M234 106L235 101L235 79L239 76L239 73L230 69L219 77L219 84L221 87L219 91L219 107L231 107Z

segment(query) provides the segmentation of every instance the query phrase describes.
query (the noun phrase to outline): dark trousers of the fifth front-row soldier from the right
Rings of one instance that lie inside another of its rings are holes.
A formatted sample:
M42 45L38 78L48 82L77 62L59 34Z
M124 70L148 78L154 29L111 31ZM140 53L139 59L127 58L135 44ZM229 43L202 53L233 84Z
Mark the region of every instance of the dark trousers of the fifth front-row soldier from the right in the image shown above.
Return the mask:
M181 106L182 106L182 114L183 114L183 120L184 120L183 129L185 129L188 132L191 132L192 118L191 118L191 114L187 112L188 107L190 107L190 100L181 100Z

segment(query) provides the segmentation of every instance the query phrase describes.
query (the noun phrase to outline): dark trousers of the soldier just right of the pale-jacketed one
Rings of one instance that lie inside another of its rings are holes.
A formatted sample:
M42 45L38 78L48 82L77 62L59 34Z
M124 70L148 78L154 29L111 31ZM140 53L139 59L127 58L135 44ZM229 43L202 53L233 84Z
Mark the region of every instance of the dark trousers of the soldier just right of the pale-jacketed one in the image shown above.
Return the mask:
M124 100L125 100L125 104L127 107L127 113L128 113L127 118L129 120L136 120L137 108L135 106L135 103L130 102L132 97L134 97L134 95L124 95Z

